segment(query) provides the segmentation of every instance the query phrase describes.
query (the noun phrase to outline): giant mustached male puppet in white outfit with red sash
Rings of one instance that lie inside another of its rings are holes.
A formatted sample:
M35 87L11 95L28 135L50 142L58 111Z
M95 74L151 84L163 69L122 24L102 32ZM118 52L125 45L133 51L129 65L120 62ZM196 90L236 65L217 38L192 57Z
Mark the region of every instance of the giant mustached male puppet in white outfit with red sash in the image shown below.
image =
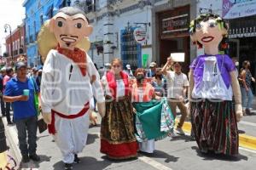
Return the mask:
M82 49L88 50L87 37L91 32L84 12L66 7L46 21L38 35L39 52L43 59L47 55L41 82L44 121L61 149L65 169L79 163L78 153L86 144L93 95L100 115L105 114L99 74Z

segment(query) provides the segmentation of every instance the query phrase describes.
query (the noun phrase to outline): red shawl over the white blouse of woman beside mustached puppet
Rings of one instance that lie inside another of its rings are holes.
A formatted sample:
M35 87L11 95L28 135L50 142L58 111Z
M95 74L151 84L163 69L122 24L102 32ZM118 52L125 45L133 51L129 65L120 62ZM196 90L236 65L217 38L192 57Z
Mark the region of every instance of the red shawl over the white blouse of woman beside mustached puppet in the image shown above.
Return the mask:
M128 80L128 76L127 76L127 74L124 73L124 71L120 71L120 76L121 76L121 78L124 81L124 84L125 84L125 96L127 96L129 94L129 80ZM107 77L108 87L110 89L112 97L115 99L116 98L117 84L116 84L116 80L115 80L115 77L113 75L113 72L112 71L108 71L108 73L106 74L106 77Z

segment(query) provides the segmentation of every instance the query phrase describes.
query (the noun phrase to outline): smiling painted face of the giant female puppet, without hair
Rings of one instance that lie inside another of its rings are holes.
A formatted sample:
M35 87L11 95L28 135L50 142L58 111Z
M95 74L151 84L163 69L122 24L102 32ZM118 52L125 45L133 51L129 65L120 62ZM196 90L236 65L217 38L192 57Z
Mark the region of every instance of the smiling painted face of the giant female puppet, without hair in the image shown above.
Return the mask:
M210 19L198 23L191 38L194 42L201 42L205 47L213 47L218 46L225 34L227 31L220 29L216 20Z

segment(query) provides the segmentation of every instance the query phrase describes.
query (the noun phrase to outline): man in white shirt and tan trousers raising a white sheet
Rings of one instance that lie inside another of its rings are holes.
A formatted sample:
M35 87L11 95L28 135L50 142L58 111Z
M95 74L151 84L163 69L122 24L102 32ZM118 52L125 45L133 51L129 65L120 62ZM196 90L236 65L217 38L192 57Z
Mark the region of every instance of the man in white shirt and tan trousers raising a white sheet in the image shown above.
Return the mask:
M173 65L174 71L166 71L167 67ZM166 65L163 67L162 72L166 75L167 80L167 98L169 106L171 107L174 117L177 115L177 107L181 111L181 118L177 124L176 132L184 135L183 123L188 115L184 99L189 87L188 77L181 71L181 65L178 62L172 62L171 58L167 59ZM173 134L172 134L173 135Z

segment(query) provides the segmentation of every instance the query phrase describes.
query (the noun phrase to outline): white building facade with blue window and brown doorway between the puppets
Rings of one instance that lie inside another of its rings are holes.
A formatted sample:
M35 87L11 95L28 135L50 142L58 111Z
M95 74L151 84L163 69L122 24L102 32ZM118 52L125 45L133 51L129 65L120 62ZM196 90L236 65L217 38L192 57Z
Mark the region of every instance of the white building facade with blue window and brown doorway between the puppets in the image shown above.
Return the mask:
M184 52L185 64L189 65L196 54L187 31L190 20L195 18L195 4L195 0L95 0L72 3L85 11L90 25L94 27L89 51L94 62L102 66L118 57L123 59L124 65L130 64L133 69L147 67L151 61L162 65L172 52ZM134 39L137 27L146 31L143 32L146 40L142 43Z

